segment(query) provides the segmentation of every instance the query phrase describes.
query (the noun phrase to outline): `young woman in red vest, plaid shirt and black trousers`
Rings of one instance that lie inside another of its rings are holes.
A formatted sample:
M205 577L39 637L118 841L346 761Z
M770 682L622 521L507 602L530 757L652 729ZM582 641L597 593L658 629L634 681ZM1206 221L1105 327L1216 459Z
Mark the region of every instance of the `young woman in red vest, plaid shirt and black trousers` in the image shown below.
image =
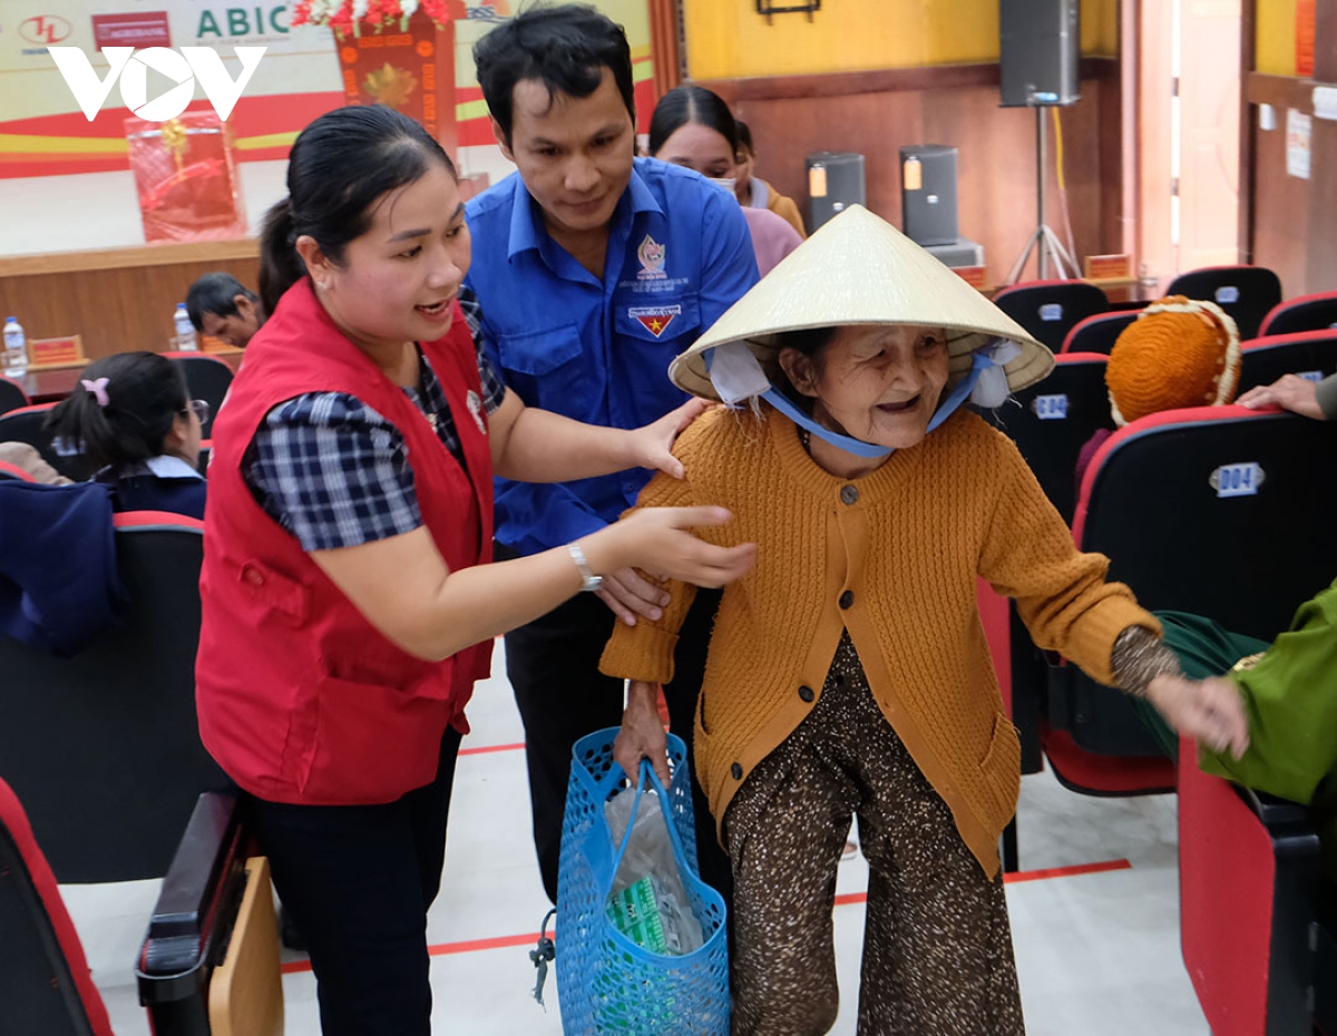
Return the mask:
M525 409L461 293L455 170L413 120L350 107L289 156L262 235L273 315L214 425L201 734L251 799L306 940L326 1036L431 1032L427 910L445 853L464 706L493 636L628 565L722 586L750 545L664 509L570 548L488 564L492 475L681 475L698 412L634 432Z

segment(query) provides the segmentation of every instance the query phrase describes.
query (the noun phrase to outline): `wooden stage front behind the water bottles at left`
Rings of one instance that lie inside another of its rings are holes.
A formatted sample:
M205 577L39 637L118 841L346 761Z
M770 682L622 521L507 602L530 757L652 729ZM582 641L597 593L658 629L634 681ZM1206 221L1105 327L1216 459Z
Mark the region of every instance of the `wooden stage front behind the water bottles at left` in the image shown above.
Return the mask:
M176 303L211 270L226 270L254 290L255 241L0 259L0 315L17 317L29 340L80 334L90 360L132 349L163 352L175 333Z

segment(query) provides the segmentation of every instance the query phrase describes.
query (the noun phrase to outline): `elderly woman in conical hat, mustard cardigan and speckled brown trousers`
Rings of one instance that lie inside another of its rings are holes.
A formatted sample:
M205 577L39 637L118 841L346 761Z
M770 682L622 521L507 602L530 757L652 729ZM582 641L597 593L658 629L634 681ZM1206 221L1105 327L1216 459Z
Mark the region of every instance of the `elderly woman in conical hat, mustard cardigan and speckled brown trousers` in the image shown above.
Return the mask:
M996 406L1052 357L951 270L853 207L749 291L670 374L718 408L678 440L710 541L758 544L726 588L697 714L697 773L729 852L734 1033L821 1033L837 1013L836 868L850 815L869 861L860 1031L1023 1032L997 839L1019 745L976 611L983 576L1035 642L1242 753L1238 695L1186 680L1107 560L1079 553ZM616 758L662 775L655 684L691 588L618 628L631 680Z

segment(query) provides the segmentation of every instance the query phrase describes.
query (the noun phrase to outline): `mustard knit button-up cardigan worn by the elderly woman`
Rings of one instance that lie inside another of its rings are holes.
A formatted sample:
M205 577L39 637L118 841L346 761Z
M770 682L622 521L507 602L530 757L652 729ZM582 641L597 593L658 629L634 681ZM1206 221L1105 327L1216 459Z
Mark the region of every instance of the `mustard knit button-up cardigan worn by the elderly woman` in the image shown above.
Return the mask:
M753 767L814 707L849 630L886 722L943 795L961 838L995 874L997 839L1020 786L1016 729L1003 711L976 577L1016 598L1035 643L1112 682L1110 652L1128 626L1159 632L1108 561L1080 553L1011 440L957 413L873 473L837 479L804 450L789 418L723 408L674 448L638 507L721 504L733 521L707 541L758 544L725 590L697 708L698 778L719 823ZM677 632L695 595L667 586L659 622L618 624L600 668L673 678Z

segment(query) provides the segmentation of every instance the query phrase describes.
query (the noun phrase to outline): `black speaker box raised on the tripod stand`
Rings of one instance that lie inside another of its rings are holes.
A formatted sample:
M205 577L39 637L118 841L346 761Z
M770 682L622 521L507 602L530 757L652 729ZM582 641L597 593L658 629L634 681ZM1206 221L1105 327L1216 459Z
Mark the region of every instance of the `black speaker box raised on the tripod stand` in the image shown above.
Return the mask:
M1080 0L999 0L1003 107L1072 104L1082 96Z

